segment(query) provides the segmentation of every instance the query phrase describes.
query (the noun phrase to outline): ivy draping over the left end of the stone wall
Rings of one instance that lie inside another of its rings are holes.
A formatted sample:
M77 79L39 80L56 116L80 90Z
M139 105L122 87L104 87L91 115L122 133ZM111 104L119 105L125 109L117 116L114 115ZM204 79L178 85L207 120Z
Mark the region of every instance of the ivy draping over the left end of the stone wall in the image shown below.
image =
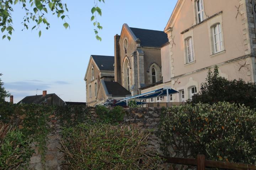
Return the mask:
M15 124L20 128L22 135L31 142L37 142L42 157L45 155L47 135L50 132L48 117L52 114L52 107L0 102L0 121Z

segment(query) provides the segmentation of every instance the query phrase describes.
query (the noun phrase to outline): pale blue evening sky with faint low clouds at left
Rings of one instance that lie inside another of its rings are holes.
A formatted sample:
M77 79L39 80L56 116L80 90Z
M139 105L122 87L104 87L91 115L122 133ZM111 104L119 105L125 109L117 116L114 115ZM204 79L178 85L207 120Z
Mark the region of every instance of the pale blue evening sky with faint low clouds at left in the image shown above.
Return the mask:
M17 103L26 96L55 93L64 101L86 102L84 76L90 55L114 55L114 35L129 27L164 30L177 0L105 0L100 3L102 17L97 21L102 41L95 38L90 21L94 0L63 0L69 9L70 29L57 16L47 15L50 29L23 30L25 12L14 6L11 41L1 40L0 73L4 87ZM0 36L2 37L2 36ZM39 90L36 90L39 89ZM9 101L9 98L6 98Z

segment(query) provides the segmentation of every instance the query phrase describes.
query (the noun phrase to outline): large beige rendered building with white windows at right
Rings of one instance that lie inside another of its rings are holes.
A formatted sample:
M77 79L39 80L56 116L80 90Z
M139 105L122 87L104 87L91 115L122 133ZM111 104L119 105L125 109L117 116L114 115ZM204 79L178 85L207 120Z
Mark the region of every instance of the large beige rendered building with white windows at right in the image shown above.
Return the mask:
M208 69L215 65L228 80L255 82L255 4L251 0L178 0L164 30L169 43L161 47L163 83L140 92L167 86L179 91L169 101L186 101L200 91Z

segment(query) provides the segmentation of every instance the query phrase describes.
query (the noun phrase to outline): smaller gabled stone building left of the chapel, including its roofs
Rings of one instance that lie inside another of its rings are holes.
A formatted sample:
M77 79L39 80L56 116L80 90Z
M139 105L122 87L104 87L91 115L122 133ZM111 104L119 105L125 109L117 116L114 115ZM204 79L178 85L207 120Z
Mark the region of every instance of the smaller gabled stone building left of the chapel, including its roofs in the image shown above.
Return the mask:
M84 80L87 106L130 96L128 90L114 81L114 56L91 55Z

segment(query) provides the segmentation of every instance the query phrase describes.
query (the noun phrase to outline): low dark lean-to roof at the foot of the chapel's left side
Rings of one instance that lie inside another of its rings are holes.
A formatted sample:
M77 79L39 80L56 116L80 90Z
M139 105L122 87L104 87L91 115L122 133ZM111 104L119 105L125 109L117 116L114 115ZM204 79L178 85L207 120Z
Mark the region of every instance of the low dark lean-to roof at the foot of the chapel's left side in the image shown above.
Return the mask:
M105 81L105 85L108 94L112 95L112 97L126 97L126 95L131 95L131 93L128 90L126 90L117 82Z

